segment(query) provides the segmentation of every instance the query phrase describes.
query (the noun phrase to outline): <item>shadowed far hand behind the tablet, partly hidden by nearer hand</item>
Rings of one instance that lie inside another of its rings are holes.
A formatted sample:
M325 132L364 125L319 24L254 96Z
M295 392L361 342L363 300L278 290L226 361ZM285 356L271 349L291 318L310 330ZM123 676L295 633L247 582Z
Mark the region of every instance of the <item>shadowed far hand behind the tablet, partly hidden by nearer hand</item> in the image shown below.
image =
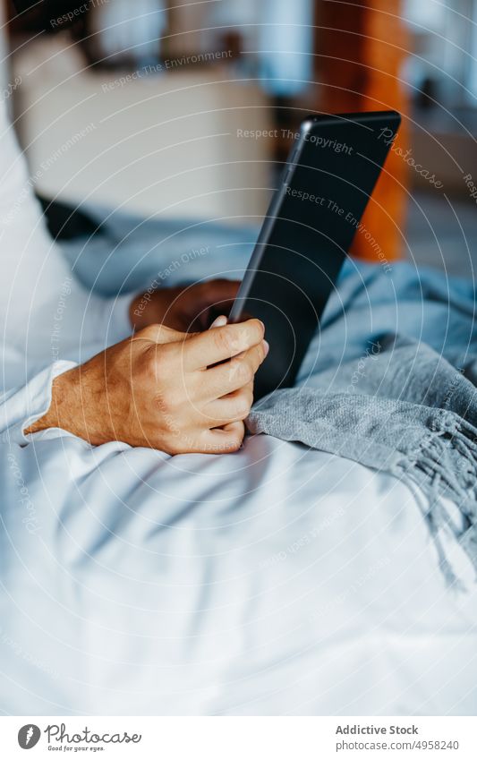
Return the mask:
M166 325L187 332L209 327L210 312L228 314L240 283L215 279L188 287L165 287L138 295L131 304L130 317L135 329Z

